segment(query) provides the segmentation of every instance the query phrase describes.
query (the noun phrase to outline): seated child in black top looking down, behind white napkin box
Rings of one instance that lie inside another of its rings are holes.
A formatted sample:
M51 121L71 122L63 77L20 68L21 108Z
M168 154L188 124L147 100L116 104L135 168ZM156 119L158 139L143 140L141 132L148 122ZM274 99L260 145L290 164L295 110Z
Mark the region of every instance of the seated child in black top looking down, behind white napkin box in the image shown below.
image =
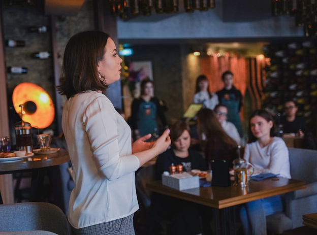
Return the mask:
M161 180L163 172L169 172L173 163L183 165L183 171L193 169L206 171L206 163L199 152L190 149L190 129L186 122L178 121L170 128L171 145L156 160L155 180ZM172 221L172 234L196 235L202 233L200 225L199 207L174 197L152 193L152 208L155 212Z

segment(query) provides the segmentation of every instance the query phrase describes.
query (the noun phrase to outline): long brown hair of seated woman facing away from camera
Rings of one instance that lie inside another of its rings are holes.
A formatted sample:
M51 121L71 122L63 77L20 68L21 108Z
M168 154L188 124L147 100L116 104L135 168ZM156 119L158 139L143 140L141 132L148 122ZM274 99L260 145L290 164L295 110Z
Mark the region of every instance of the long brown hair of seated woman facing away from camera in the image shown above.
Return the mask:
M214 112L210 109L201 109L197 113L198 132L205 133L207 140L217 139L224 143L237 147L237 143L226 133Z

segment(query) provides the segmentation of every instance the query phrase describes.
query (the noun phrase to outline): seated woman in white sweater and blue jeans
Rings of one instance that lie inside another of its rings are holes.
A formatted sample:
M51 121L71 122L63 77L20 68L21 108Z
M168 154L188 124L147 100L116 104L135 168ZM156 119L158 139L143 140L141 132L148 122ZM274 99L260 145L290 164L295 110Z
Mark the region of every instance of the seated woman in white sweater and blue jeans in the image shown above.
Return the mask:
M271 114L265 110L254 111L249 120L249 139L244 159L253 164L257 172L273 173L291 179L288 148L281 138L273 137L274 132L275 124ZM279 195L244 204L240 211L244 233L267 234L266 216L282 210Z

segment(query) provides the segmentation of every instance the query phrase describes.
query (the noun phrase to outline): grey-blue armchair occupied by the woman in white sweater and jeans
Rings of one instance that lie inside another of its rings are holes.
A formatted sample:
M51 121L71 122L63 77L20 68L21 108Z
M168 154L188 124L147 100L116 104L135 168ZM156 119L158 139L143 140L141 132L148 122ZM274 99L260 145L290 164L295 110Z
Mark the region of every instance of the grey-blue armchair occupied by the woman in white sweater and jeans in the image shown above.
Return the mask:
M284 212L266 217L275 234L303 226L302 216L317 212L317 151L289 148L291 177L306 181L306 188L284 194Z

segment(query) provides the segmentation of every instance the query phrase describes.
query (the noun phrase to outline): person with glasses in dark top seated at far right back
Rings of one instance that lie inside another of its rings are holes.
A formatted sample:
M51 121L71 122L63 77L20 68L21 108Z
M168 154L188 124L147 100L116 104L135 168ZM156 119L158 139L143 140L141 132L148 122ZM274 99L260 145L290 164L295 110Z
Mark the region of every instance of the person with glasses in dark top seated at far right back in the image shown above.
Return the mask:
M297 116L297 104L293 100L287 100L284 103L285 115L280 118L280 124L283 125L284 133L298 133L299 130L303 133L307 132L305 118Z

